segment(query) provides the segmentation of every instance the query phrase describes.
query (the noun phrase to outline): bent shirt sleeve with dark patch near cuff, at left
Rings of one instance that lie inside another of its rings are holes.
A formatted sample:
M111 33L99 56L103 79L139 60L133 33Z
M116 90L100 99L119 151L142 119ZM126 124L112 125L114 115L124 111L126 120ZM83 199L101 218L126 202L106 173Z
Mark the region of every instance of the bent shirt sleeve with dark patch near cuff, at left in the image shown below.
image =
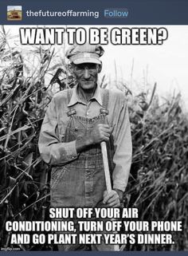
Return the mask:
M38 147L41 158L50 165L63 165L77 158L76 140L68 143L61 142L58 131L55 97L51 100L49 108L45 113Z

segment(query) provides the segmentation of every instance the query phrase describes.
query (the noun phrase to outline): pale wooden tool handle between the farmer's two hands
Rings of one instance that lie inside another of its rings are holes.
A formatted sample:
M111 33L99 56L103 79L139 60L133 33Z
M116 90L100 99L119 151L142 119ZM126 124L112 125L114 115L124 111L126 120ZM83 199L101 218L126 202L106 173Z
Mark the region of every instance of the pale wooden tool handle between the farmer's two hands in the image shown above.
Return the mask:
M108 166L108 155L107 155L107 144L105 141L100 143L102 155L103 155L103 163L104 163L104 175L106 179L107 191L110 193L112 191L111 179L110 179L110 171Z

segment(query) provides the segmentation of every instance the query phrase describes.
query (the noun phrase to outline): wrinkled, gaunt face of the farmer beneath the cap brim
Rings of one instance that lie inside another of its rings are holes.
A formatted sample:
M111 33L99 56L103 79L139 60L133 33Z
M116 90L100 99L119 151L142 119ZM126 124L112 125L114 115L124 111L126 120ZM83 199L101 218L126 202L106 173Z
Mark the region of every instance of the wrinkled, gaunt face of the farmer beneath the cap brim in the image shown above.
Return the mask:
M82 63L73 66L76 80L81 89L91 90L96 87L99 65L95 63Z

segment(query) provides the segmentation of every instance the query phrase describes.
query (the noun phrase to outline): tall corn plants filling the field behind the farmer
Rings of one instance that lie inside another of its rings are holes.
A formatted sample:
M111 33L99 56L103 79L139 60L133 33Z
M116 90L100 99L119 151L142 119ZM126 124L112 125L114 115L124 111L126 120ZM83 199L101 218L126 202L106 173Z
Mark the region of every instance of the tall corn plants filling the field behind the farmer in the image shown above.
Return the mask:
M50 167L40 158L37 141L49 101L72 88L74 77L64 56L33 46L23 53L0 34L0 246L11 247L6 221L46 220ZM46 84L46 77L49 82ZM107 87L101 80L101 87ZM182 221L173 245L130 245L124 250L188 249L188 120L181 96L159 104L152 93L134 95L127 85L133 159L124 207L137 207L140 220ZM14 245L15 247L15 245ZM18 245L20 250L52 250L48 245Z

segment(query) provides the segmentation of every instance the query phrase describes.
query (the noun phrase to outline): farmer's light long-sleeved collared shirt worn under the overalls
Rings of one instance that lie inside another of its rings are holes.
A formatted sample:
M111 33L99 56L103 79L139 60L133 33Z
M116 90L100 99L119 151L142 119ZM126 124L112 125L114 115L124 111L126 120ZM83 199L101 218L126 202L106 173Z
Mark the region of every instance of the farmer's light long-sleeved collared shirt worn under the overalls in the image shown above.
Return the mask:
M76 160L76 140L64 142L65 129L69 121L68 107L73 106L77 116L92 118L100 115L103 89L98 86L92 98L85 103L80 100L77 87L72 89L72 97L67 102L67 93L61 91L53 96L46 111L39 136L39 151L45 163L65 165L70 160ZM108 122L112 127L115 154L112 173L113 188L125 190L131 167L131 128L125 96L119 90L109 90Z

